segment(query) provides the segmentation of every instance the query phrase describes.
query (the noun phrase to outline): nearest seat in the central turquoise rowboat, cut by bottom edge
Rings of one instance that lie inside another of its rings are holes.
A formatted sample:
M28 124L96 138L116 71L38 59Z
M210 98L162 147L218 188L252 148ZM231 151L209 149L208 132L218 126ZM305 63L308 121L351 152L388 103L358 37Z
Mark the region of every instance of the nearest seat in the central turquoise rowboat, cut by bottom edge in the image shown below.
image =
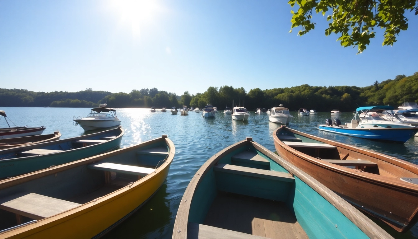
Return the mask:
M189 222L187 224L187 238L190 239L265 239L239 231L231 231L219 227Z

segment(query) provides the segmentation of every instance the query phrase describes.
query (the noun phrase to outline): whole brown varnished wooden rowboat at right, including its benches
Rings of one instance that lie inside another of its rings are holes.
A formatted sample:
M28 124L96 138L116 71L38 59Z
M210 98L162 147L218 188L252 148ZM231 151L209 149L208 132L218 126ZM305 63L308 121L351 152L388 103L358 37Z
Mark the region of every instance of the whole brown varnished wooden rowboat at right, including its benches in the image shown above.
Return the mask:
M286 126L273 139L280 157L360 210L400 232L417 222L418 165Z

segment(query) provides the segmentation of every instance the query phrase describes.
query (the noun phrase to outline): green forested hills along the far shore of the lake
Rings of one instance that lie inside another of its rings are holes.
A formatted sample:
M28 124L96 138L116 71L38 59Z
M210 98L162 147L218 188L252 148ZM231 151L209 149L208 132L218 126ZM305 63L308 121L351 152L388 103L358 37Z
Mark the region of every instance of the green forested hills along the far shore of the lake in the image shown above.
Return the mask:
M110 93L92 89L76 93L0 89L0 106L25 107L95 107L99 103L107 103L108 107L113 108L171 108L181 105L202 108L206 104L212 104L218 109L223 109L234 104L254 110L283 104L291 111L299 108L353 111L358 106L365 105L391 105L397 108L403 102L418 102L418 72L408 77L398 75L393 80L376 81L367 87L299 85L270 90L255 88L246 92L243 87L225 85L219 88L211 86L206 92L196 95L190 95L186 91L181 96L156 88L132 90L130 93Z

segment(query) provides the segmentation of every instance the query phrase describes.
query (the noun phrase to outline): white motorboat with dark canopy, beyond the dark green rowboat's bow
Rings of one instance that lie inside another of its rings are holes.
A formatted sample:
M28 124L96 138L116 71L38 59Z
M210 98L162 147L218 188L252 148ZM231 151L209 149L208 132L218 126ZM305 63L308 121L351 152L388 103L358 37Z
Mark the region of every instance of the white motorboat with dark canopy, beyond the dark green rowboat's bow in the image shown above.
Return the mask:
M74 117L76 125L80 125L85 131L111 128L120 125L120 119L116 116L116 110L112 108L92 108L92 112L86 117Z

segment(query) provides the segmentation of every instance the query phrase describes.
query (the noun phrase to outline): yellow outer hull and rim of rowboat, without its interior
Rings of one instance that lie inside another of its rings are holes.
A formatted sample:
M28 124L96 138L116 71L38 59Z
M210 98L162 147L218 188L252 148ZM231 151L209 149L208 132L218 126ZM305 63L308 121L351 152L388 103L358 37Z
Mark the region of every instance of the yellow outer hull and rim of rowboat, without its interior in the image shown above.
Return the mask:
M64 164L53 169L41 170L0 182L0 190L7 190L8 187L12 187L13 185L28 182L29 180L36 180L48 175L60 174L65 170L71 170L84 164L91 164L106 157L115 157L118 154L121 154L122 157L124 151L138 150L141 147L158 142L166 144L169 151L165 162L157 164L158 167L155 172L76 208L41 219L35 224L29 224L0 233L0 238L87 239L94 236L101 236L112 226L124 220L131 212L142 206L161 187L166 180L175 153L174 144L171 140L166 137L153 139L106 154Z

